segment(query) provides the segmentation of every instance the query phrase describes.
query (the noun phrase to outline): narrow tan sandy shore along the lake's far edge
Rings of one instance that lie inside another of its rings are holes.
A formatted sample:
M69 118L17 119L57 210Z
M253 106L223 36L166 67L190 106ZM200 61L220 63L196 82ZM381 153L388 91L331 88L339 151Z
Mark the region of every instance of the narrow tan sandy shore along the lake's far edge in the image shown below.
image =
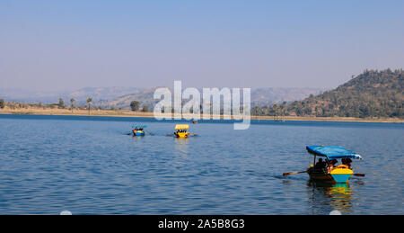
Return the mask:
M132 112L128 110L74 110L68 109L0 109L0 114L33 114L33 115L74 115L74 116L114 116L114 117L154 117L153 112ZM251 116L252 120L270 120L273 116ZM297 117L285 116L285 121L353 121L353 122L404 122L398 118L354 118L354 117Z

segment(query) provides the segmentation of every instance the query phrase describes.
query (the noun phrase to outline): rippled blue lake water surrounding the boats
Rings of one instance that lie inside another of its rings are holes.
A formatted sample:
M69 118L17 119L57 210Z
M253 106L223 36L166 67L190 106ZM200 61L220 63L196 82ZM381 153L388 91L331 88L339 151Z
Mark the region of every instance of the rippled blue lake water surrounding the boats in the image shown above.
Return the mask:
M128 136L133 123L153 135ZM0 214L404 214L404 124L0 115ZM348 185L309 182L306 145L340 145Z

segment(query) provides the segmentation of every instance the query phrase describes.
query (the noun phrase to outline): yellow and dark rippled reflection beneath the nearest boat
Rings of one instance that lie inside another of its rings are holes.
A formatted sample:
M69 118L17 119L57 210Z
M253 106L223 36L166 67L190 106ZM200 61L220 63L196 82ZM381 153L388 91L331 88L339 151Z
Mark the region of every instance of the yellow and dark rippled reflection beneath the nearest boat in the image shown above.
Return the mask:
M308 190L312 190L309 195L313 214L329 214L330 211L339 211L341 214L352 212L352 192L349 184L309 181Z

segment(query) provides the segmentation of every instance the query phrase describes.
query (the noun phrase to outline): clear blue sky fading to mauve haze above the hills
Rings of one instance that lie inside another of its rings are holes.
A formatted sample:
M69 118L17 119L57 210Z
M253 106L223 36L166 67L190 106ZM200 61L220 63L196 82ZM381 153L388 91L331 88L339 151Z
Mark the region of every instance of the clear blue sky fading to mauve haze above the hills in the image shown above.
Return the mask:
M332 88L403 41L403 1L2 0L0 87Z

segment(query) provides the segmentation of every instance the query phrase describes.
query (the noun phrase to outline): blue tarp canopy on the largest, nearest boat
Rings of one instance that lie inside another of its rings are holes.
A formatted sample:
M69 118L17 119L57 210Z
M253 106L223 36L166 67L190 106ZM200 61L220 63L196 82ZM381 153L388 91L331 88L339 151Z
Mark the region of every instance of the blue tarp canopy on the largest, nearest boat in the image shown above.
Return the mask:
M360 155L343 147L307 146L306 149L313 155L327 157L329 160L338 158L362 159Z

